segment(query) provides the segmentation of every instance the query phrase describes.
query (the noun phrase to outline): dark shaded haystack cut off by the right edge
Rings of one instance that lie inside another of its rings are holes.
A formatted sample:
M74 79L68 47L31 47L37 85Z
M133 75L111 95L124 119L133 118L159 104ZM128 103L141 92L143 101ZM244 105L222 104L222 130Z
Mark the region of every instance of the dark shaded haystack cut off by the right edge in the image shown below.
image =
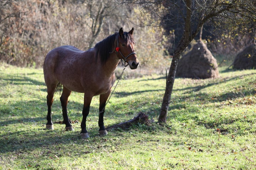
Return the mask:
M247 46L236 55L233 62L234 69L256 69L256 44Z

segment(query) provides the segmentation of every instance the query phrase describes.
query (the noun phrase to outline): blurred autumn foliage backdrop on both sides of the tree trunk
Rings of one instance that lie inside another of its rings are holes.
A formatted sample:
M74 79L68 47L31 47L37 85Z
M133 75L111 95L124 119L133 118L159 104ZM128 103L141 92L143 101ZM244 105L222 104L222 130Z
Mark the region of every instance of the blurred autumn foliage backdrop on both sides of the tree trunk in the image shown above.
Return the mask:
M170 23L165 23L164 27L145 26L143 21L149 18L149 13L139 5L100 0L0 1L0 61L40 68L44 57L54 47L74 45L87 50L121 27L125 31L134 27L135 51L140 66L147 73L163 73L182 36L182 27ZM221 18L219 21L215 26L214 23L206 24L203 39L220 63L225 59L230 64L236 53L254 41L251 38L253 32L247 36L241 32L241 28L249 29L254 22L230 27L222 23ZM216 30L222 31L217 33ZM185 53L194 43L196 40Z

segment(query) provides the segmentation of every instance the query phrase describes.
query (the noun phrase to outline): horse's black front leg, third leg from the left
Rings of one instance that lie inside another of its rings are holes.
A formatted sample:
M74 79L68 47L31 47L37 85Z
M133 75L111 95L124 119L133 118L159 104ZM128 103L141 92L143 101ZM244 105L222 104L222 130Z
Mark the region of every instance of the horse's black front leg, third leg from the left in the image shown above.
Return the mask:
M82 138L89 138L88 131L86 130L86 118L90 112L90 104L91 104L92 97L84 96L84 107L82 110L82 122L81 122L81 137Z

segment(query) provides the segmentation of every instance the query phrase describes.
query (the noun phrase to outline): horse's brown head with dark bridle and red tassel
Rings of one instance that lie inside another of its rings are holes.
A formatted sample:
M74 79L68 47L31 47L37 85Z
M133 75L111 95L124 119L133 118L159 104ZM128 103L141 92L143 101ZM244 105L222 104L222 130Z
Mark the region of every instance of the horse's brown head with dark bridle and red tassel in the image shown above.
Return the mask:
M134 44L133 28L128 33L123 32L123 28L120 28L116 53L121 61L124 60L124 64L127 62L127 65L130 66L130 69L136 69L139 66L139 60L137 58L137 54L134 51ZM118 55L118 52L120 55Z

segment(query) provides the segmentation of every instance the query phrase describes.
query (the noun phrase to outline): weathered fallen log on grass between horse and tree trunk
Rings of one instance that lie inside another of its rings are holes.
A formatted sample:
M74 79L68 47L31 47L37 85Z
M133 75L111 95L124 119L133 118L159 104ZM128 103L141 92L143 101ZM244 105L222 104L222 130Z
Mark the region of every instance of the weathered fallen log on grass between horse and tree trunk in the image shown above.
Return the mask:
M154 119L149 120L148 115L146 115L142 112L139 112L137 114L137 116L135 116L133 119L130 119L130 120L125 121L123 123L119 123L117 125L108 126L106 128L106 130L116 129L116 128L127 129L130 126L138 124L138 123L145 124L145 125L150 125L150 123L153 123L153 122L154 122Z

